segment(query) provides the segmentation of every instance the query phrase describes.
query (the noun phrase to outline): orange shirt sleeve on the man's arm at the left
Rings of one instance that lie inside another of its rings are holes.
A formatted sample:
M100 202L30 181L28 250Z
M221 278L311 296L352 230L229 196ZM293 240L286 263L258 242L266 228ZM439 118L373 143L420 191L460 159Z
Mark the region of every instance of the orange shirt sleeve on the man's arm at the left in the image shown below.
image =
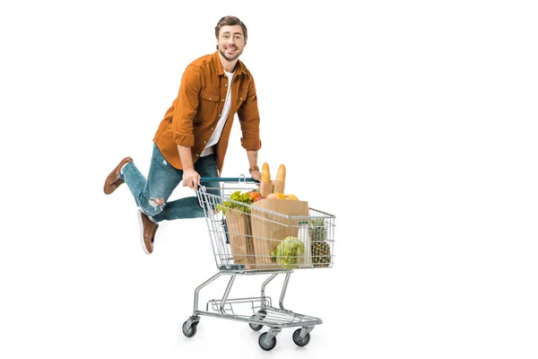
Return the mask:
M176 144L192 147L195 144L193 119L198 109L198 95L201 89L200 70L197 66L187 66L179 85L178 100L172 117L173 137Z

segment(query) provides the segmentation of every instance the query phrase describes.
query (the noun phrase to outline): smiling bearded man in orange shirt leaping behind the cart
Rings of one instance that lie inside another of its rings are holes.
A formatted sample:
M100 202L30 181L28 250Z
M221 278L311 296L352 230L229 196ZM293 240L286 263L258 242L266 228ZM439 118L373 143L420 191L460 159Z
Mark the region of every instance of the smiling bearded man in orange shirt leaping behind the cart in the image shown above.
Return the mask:
M178 97L161 120L153 137L153 153L147 180L124 158L105 180L109 195L124 182L134 196L141 223L143 250L153 251L159 222L204 217L196 197L168 201L183 180L197 189L218 187L200 183L201 177L220 177L230 130L237 113L241 144L247 150L248 171L261 180L257 151L261 147L256 87L252 74L239 61L247 45L247 27L237 17L225 16L215 27L217 51L187 66ZM218 193L218 192L217 192Z

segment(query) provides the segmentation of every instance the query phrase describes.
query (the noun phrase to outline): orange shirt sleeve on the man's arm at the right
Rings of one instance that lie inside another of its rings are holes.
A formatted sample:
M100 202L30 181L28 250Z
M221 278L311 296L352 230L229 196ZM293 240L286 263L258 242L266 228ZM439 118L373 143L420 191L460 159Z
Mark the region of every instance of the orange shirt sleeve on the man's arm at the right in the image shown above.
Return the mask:
M262 147L260 140L260 115L257 107L256 85L250 77L247 87L247 98L238 109L239 123L241 124L241 145L247 151L257 151Z

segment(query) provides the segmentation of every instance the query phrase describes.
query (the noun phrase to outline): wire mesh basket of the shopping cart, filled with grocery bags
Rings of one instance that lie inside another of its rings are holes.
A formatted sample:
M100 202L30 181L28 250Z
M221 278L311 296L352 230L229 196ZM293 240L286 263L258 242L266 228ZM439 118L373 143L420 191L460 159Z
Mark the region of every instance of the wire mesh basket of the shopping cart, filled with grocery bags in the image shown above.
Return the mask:
M219 270L333 267L334 215L309 208L305 202L304 215L283 215L256 202L247 205L232 200L230 195L238 190L247 192L256 187L248 188L246 181L235 182L235 187L222 182L221 188L201 187L197 191ZM223 206L225 202L227 206Z

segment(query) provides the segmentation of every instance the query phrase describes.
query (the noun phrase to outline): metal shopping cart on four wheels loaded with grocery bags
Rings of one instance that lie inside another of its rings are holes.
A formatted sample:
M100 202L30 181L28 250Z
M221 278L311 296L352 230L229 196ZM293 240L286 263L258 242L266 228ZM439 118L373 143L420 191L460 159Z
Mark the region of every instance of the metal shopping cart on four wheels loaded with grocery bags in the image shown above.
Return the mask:
M334 215L308 206L302 215L282 215L256 206L256 202L246 205L231 199L235 191L245 193L256 189L254 180L244 176L201 181L218 184L216 188L200 187L197 197L204 207L219 272L195 289L193 315L183 324L183 334L194 337L200 316L205 315L242 321L256 331L268 327L258 339L259 346L267 351L276 346L276 336L282 328L300 327L293 332L293 342L298 346L308 345L309 332L323 321L284 309L284 295L293 269L333 267ZM280 274L285 277L277 308L265 294L265 286ZM260 296L229 298L236 276L256 275L269 276L261 285ZM210 300L205 311L199 310L200 291L220 276L230 276L222 298Z

